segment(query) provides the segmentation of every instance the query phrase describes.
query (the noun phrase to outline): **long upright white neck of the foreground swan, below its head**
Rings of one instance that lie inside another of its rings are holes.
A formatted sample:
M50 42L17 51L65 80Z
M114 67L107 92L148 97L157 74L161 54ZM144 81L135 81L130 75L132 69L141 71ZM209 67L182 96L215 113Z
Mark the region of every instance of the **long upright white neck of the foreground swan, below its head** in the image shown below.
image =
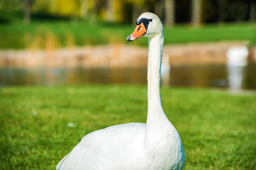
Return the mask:
M160 98L160 69L164 34L148 38L148 117L147 124L166 117Z

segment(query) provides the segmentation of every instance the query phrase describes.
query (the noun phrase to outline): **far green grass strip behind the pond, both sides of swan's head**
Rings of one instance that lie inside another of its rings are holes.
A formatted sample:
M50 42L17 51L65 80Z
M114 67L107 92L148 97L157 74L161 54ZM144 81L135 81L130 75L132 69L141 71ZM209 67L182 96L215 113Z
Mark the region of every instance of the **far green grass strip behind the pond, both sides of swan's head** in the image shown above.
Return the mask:
M0 49L45 48L50 44L49 33L54 35L55 48L69 46L68 38L73 39L73 45L99 45L99 44L133 44L126 38L135 28L133 25L107 24L99 22L97 26L90 26L88 22L72 24L68 21L33 21L24 25L20 21L9 24L0 24ZM177 25L173 28L164 27L165 44L248 40L256 44L255 23L228 23L223 25L206 24L199 28L188 25ZM39 39L39 40L38 40ZM37 44L39 41L39 45ZM136 44L147 46L147 41L137 39Z

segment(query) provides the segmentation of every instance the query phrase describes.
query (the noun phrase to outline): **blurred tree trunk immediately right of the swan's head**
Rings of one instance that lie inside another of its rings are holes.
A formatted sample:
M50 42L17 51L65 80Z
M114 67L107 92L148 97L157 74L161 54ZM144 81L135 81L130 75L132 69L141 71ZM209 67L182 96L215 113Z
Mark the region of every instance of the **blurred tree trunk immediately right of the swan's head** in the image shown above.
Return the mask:
M168 26L173 26L175 22L175 1L174 0L164 0L164 18L165 24Z

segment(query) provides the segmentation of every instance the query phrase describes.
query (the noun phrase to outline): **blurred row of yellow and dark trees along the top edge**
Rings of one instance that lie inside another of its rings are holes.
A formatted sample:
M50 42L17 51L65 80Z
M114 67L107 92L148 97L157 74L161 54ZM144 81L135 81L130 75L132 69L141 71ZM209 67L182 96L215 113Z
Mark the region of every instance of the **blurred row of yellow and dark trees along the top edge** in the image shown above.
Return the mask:
M92 25L98 18L134 23L146 11L156 13L166 25L256 20L256 0L0 0L0 22L20 19L23 10L23 21L29 23L29 9L32 17L69 17L73 22L81 17Z

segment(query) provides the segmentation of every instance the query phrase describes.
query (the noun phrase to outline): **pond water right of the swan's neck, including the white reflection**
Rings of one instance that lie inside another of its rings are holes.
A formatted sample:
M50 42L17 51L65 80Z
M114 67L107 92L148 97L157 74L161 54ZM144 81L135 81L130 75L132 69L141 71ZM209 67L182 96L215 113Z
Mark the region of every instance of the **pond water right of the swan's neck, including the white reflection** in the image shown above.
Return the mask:
M170 85L256 89L255 73L256 63L172 66Z

